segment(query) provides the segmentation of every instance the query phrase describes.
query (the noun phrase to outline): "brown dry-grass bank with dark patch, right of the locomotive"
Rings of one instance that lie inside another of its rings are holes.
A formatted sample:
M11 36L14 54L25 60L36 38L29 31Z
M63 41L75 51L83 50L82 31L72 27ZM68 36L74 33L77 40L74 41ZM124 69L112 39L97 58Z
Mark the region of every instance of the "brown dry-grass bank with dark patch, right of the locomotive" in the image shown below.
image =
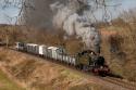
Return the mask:
M115 26L102 29L102 54L113 73L136 81L136 27L124 23Z

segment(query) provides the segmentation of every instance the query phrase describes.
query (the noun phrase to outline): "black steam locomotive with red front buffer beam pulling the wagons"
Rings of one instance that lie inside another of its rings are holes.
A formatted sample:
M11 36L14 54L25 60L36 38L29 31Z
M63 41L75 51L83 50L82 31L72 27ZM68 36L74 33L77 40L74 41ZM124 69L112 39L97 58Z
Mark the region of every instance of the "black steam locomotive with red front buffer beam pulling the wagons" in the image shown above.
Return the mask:
M91 50L85 50L77 54L79 62L78 68L92 72L95 75L106 76L110 73L110 68L106 65L103 56L96 54Z

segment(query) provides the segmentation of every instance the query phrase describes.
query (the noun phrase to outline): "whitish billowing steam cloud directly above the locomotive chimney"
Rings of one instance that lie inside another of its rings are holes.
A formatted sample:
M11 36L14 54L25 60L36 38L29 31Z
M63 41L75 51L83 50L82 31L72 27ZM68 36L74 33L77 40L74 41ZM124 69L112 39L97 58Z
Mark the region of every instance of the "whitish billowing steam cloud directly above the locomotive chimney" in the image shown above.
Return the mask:
M69 0L67 4L52 3L50 7L55 13L52 22L57 28L65 30L69 36L81 37L87 49L99 52L100 35L92 26L92 16L87 16L87 13L91 13L91 7L87 3L87 0Z

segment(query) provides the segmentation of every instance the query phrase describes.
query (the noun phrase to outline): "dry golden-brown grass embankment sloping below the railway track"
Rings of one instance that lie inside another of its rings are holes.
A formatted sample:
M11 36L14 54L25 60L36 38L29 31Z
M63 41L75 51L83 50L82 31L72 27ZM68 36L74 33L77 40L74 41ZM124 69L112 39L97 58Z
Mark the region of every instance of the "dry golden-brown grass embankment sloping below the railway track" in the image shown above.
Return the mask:
M0 49L1 63L27 90L110 90L65 66L12 50ZM4 76L4 75L3 75ZM5 90L22 90L4 81ZM2 89L4 90L4 89Z

